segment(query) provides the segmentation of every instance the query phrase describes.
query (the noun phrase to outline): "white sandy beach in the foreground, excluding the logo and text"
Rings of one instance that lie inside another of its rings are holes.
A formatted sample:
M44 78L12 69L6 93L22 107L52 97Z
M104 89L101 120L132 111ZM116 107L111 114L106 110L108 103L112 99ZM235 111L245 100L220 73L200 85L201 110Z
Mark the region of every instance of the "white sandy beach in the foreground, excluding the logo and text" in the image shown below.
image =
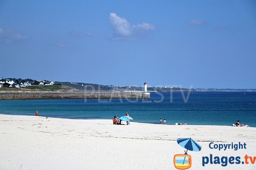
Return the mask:
M178 138L192 138L191 170L255 170L255 164L206 164L203 156L256 156L256 128L154 125L111 120L58 119L0 114L0 170L175 170L183 154ZM246 149L210 149L209 143L246 143Z

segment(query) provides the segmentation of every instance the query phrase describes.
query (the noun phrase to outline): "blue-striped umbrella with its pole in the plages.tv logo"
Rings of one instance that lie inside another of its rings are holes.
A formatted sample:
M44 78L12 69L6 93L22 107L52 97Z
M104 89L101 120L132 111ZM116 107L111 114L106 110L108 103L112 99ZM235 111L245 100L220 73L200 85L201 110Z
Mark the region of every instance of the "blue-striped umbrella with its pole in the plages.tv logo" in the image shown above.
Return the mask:
M202 149L202 147L198 143L193 141L193 139L191 139L191 138L179 138L179 139L177 139L177 143L181 147L184 147L186 149L186 151L184 150L185 154L187 154L188 150L198 152ZM186 156L185 156L185 158L186 158ZM185 161L185 158L184 158L184 161ZM184 161L183 161L183 164L184 164Z

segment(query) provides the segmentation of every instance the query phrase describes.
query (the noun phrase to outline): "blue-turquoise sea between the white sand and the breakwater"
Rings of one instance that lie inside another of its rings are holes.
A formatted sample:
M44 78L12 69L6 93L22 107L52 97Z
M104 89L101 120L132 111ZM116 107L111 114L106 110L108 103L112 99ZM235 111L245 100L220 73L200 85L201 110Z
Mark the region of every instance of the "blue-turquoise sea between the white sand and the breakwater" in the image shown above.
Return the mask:
M256 92L150 92L150 99L0 100L0 113L67 119L109 119L129 113L134 120L167 125L227 125L256 127ZM131 124L132 124L131 122Z

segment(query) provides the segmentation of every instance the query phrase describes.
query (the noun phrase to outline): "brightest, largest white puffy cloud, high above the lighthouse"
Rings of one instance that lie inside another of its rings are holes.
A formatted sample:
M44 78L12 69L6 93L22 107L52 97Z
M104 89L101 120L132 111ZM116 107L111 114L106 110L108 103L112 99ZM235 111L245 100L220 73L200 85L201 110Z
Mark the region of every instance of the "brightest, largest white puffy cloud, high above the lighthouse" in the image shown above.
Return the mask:
M125 18L121 18L115 13L110 13L109 19L113 27L112 40L134 40L156 29L153 24L144 22L138 25L131 25Z

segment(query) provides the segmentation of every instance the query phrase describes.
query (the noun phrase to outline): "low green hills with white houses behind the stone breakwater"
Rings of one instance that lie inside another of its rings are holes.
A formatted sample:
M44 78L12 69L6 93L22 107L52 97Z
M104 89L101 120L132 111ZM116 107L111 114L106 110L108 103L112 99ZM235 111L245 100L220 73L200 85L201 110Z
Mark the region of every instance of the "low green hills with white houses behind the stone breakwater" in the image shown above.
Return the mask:
M142 91L142 87L123 86L123 85L99 85L82 82L53 82L48 80L0 78L0 91ZM218 89L218 88L180 88L165 86L148 86L148 91L193 91L193 92L211 92L211 91L256 91L256 89Z

